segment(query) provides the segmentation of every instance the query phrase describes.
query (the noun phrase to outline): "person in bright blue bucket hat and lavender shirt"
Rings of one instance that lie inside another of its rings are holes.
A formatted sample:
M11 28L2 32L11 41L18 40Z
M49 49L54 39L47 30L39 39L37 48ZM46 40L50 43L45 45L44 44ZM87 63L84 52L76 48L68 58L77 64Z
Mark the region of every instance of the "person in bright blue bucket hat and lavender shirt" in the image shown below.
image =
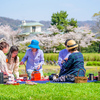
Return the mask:
M37 40L32 40L28 47L31 49L26 51L20 65L24 64L27 60L26 71L29 79L31 79L31 73L33 70L39 71L41 73L41 77L43 77L42 65L44 64L44 55L43 51L40 50L39 42Z

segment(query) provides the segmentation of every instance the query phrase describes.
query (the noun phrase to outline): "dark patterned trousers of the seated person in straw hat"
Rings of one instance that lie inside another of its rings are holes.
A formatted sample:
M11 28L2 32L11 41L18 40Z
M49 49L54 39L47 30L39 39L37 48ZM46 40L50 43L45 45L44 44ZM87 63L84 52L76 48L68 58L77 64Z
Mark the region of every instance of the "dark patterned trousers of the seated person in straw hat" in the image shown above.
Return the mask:
M62 75L61 77L54 79L53 82L74 82L75 76L74 75Z

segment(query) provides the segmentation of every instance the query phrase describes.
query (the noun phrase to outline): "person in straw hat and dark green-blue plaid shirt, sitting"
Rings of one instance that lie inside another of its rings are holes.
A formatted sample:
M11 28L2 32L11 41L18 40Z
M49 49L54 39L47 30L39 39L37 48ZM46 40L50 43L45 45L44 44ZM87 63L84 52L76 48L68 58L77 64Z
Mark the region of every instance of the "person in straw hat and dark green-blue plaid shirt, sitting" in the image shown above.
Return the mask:
M67 50L71 53L68 57L68 60L63 62L62 67L65 69L62 73L61 77L54 81L62 81L62 77L64 75L73 75L74 77L77 76L79 69L84 68L84 58L81 52L77 50L78 45L74 40L69 40L67 42ZM80 70L79 72L80 76L84 76L84 72ZM64 77L65 78L65 77ZM64 79L65 80L65 79ZM67 79L67 81L70 81Z

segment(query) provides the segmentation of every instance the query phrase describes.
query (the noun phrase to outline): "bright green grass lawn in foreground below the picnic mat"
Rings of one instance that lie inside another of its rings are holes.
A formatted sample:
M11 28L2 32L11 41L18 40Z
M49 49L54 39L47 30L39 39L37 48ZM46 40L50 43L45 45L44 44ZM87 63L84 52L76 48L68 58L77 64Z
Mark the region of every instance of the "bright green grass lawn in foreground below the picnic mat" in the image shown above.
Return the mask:
M99 100L100 83L0 85L0 100Z

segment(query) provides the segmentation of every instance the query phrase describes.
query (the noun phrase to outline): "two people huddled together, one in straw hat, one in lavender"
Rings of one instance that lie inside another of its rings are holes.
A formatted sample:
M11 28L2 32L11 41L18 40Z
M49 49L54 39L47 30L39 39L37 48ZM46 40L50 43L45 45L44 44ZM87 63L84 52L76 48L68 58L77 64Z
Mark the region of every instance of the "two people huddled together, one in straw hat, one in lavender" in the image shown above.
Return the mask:
M79 52L78 45L74 40L68 39L65 41L66 49L63 49L59 53L58 64L60 66L59 78L55 79L55 82L61 81L75 81L75 77L84 76L86 71L84 68L84 58L81 52Z

